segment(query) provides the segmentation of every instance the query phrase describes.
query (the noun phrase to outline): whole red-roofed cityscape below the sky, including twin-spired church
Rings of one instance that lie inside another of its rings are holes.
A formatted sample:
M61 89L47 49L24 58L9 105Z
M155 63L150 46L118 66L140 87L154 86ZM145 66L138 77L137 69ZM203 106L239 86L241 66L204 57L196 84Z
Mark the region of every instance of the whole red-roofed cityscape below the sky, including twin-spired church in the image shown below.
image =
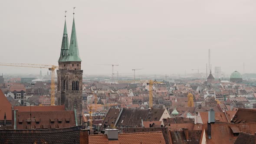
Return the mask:
M75 19L70 42L65 20L58 62L55 105L49 73L0 76L1 143L256 142L256 85L240 72L222 79L215 67L207 77L166 77L152 87L150 79L88 79L81 69Z

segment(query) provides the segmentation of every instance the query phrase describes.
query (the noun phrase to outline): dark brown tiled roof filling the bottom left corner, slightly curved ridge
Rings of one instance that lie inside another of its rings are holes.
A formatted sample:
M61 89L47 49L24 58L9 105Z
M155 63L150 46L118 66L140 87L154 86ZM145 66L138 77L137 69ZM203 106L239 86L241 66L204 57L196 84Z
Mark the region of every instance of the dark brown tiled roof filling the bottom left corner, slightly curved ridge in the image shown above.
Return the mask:
M79 144L82 126L46 130L1 129L1 144Z

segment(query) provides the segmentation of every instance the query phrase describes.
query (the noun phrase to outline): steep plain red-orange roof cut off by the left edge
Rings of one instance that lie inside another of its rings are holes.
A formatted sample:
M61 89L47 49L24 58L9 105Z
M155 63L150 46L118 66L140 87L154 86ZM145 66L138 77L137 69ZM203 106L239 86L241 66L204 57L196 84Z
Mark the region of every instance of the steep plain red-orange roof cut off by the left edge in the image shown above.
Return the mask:
M12 105L0 89L0 120L3 120L4 114L7 120L12 120Z

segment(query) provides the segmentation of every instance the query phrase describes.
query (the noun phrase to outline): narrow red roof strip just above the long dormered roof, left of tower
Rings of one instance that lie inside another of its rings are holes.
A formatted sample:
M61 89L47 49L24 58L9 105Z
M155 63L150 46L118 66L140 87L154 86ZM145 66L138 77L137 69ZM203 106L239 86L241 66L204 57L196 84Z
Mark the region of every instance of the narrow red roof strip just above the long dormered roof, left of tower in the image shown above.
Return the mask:
M30 106L16 106L14 110L30 111ZM65 105L31 106L31 111L65 111Z

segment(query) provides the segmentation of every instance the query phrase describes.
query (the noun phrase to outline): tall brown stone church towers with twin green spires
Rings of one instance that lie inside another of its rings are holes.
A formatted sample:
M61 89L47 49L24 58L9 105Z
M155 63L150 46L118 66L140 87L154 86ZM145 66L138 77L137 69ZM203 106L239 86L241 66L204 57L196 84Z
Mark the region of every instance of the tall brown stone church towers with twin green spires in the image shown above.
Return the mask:
M73 13L74 14L74 13ZM56 105L65 105L66 111L76 111L78 125L82 122L82 74L78 44L73 19L70 45L66 28L66 16L62 46L57 70L58 87Z

